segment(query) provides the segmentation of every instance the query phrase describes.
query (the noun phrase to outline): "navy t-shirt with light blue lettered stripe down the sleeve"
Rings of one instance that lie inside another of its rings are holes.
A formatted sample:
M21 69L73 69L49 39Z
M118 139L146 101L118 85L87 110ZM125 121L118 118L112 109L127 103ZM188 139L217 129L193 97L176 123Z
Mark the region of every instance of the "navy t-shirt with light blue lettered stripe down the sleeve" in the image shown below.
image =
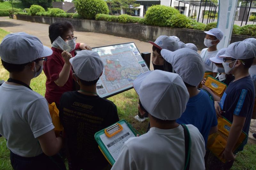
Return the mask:
M233 115L246 117L243 131L248 135L252 109L254 105L254 85L251 76L246 76L228 85L228 88L224 92L221 100L220 107L222 111L225 111L222 115L233 122ZM244 142L246 144L247 141ZM243 150L243 148L239 149Z

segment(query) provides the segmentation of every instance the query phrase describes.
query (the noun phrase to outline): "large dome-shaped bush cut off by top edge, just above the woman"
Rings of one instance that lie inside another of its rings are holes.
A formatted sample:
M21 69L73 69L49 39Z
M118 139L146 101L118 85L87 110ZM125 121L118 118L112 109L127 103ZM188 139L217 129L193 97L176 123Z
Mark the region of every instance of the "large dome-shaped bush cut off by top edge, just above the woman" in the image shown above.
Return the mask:
M95 19L96 14L108 14L108 5L104 0L76 0L76 11L85 19Z

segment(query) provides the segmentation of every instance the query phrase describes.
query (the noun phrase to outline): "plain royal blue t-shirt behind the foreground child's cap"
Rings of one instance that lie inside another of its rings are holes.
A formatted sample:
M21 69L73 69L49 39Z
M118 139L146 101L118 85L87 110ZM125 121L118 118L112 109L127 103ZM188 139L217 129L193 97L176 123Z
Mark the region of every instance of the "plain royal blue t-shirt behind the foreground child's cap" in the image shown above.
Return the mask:
M203 90L190 97L185 112L176 120L179 124L192 124L196 126L204 137L206 146L210 129L218 125L214 103L209 94Z

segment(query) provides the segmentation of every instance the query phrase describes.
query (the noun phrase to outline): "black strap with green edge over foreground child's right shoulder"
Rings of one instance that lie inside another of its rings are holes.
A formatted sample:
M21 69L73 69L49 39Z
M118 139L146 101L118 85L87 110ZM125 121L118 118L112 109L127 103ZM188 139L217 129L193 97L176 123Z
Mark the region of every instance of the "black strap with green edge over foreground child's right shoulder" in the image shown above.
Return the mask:
M190 146L191 146L191 141L190 141L190 134L188 131L188 127L184 124L181 124L183 130L184 130L184 137L185 137L185 166L184 170L189 170L189 165L190 165Z

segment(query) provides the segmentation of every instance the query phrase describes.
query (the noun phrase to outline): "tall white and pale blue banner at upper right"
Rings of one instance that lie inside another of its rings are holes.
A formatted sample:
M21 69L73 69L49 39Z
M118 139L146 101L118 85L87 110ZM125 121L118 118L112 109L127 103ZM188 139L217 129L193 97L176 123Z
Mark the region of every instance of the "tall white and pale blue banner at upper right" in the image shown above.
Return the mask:
M227 48L233 31L233 25L235 21L237 0L219 0L219 12L218 12L218 24L219 28L224 36L217 48Z

